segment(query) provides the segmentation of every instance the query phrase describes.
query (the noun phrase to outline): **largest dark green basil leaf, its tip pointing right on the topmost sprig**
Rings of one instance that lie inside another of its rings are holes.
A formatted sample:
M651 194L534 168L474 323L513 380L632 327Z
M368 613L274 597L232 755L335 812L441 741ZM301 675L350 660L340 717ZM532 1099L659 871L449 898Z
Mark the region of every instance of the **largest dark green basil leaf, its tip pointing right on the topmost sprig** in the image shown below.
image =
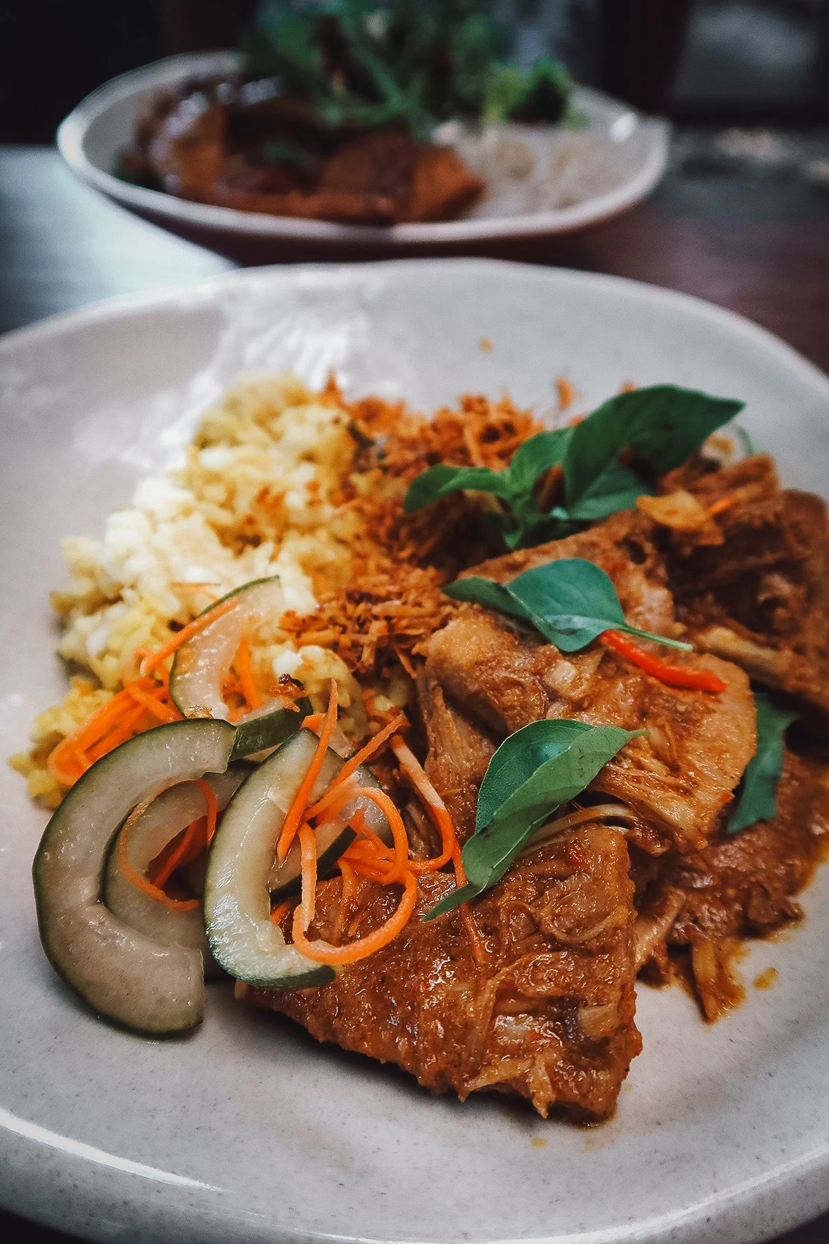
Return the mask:
M623 449L633 449L654 475L685 462L743 403L675 384L618 393L577 423L564 458L564 493L570 513L610 469ZM615 488L615 485L614 485Z

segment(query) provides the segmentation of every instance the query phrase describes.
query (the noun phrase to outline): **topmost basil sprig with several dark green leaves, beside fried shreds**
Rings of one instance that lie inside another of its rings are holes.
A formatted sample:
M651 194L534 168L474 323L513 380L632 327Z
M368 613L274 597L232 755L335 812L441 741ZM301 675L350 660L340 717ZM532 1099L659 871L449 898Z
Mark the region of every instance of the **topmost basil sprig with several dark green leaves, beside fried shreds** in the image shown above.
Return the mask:
M574 427L524 440L503 470L430 466L409 485L404 509L410 513L459 489L476 489L501 501L493 520L510 549L557 540L580 524L629 509L742 407L675 384L619 393ZM630 462L623 462L626 457ZM544 513L533 489L552 466L562 468L564 496L562 505Z

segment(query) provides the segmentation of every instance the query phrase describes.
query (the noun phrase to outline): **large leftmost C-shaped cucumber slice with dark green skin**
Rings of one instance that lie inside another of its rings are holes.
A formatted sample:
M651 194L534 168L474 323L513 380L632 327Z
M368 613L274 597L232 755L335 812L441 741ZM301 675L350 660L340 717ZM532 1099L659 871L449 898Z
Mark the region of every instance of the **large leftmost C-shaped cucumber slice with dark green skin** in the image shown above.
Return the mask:
M201 1021L201 954L163 945L107 911L99 898L107 851L138 804L224 773L234 736L226 722L174 722L122 743L76 782L35 856L37 926L50 963L94 1011L139 1033L184 1033Z

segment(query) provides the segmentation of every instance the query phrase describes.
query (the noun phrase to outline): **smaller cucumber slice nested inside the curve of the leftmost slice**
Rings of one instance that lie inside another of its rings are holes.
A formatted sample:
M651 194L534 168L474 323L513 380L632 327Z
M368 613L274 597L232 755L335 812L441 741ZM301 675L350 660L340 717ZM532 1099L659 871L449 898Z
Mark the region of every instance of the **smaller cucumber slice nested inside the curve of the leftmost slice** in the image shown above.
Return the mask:
M227 773L215 774L208 779L216 796L219 811L227 806L231 795L246 776L239 769L229 769ZM204 795L198 786L191 782L179 782L163 791L129 825L127 853L132 866L145 875L149 865L168 842L200 816L204 816ZM144 933L153 942L201 950L205 977L216 975L219 969L210 954L201 911L196 908L189 912L172 911L138 889L123 875L118 861L118 841L123 832L122 827L109 847L102 896L104 907L108 907L124 924Z

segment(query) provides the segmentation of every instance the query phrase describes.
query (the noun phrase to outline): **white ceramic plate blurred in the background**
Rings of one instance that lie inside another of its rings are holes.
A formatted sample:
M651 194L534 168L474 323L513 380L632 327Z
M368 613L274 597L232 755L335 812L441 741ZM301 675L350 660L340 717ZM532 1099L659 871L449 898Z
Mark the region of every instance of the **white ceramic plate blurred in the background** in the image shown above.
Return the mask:
M539 127L527 132L538 157L537 168L549 167L549 177L538 173L526 182L505 180L471 215L445 224L383 229L268 216L188 203L113 177L118 152L132 137L135 114L158 87L204 75L231 73L236 65L232 52L174 56L107 82L83 100L58 129L57 143L63 158L89 185L172 228L178 225L260 241L293 239L385 248L569 233L633 207L653 190L665 170L666 122L645 118L628 104L578 87L573 103L587 118L587 129ZM558 174L553 174L554 167L561 168ZM559 185L553 194L554 202L569 205L543 207L551 200L546 180ZM578 190L572 194L569 188L577 184Z

